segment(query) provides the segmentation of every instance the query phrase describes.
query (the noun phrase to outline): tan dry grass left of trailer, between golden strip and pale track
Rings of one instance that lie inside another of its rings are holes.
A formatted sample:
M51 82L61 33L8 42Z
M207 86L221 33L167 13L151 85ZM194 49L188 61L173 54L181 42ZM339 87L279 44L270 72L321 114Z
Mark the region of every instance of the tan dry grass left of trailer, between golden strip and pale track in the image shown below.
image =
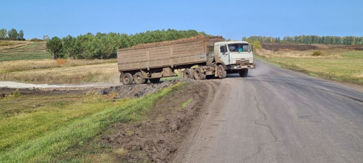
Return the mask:
M118 76L116 63L103 63L2 72L0 80L32 84L119 83Z

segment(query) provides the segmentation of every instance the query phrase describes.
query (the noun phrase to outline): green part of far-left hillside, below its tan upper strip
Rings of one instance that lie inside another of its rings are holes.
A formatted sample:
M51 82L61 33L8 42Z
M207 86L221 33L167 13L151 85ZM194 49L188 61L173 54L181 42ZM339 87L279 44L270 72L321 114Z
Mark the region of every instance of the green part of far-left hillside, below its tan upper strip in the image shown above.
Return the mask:
M45 42L32 42L14 49L0 50L0 61L51 58L52 55L45 50Z

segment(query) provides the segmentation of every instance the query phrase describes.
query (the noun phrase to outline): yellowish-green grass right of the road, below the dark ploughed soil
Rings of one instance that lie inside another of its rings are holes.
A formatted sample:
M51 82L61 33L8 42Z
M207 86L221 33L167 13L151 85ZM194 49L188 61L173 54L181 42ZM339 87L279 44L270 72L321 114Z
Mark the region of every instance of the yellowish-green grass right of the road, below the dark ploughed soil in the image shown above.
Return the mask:
M314 76L363 84L363 51L346 51L341 58L258 58Z

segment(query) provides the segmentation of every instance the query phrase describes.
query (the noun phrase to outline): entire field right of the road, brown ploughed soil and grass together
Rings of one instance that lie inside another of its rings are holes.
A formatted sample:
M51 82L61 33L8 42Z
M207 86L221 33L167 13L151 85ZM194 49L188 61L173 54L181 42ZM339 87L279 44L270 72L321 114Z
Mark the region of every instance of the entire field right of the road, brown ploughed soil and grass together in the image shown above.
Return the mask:
M363 84L363 46L269 44L257 49L258 56L277 65L323 76Z

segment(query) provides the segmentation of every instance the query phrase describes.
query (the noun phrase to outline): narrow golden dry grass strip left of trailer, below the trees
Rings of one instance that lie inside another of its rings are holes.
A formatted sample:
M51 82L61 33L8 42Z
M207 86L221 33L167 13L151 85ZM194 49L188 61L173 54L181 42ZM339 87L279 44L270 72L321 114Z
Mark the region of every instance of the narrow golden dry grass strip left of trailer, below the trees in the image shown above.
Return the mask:
M78 65L91 65L102 63L116 63L116 59L94 59L94 60L82 60L82 59L42 59L42 60L16 60L16 61L3 61L0 64L1 72L14 72L25 71L32 69L44 69L55 67L69 67Z

